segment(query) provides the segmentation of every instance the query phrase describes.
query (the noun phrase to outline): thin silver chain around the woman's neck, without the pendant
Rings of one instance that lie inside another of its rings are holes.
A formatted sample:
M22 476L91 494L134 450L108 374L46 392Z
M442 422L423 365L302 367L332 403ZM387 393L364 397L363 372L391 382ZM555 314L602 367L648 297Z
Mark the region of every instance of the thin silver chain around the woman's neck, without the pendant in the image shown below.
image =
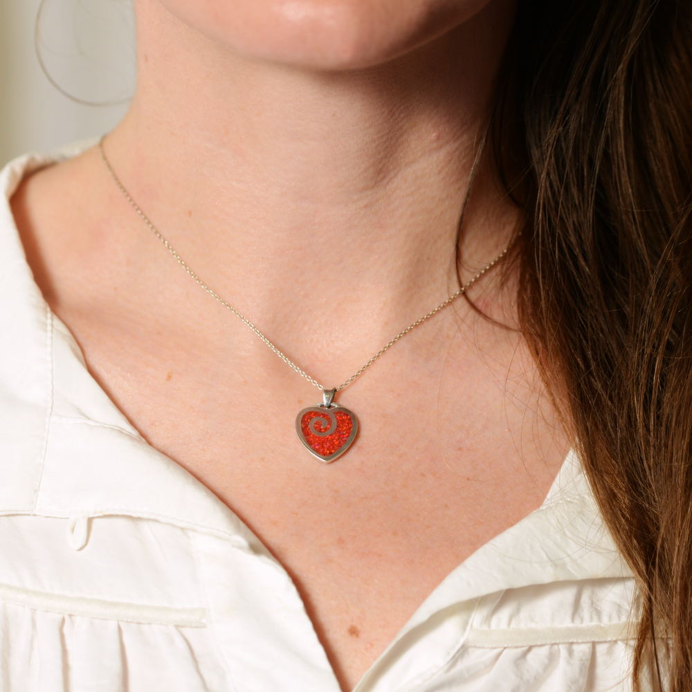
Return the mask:
M237 311L235 309L235 307L233 307L233 305L231 305L230 303L226 302L226 300L221 298L221 296L218 293L216 293L214 291L214 289L211 289L209 286L207 286L207 284L205 284L199 278L199 276L197 276L197 274L195 274L194 271L192 271L192 269L190 268L190 266L188 266L188 264L185 262L185 260L183 260L183 258L178 253L176 253L173 246L163 237L163 235L161 235L161 233L158 232L158 230L156 230L156 228L154 227L154 224L152 224L152 222L149 221L149 219L147 218L145 213L137 205L136 201L134 201L134 199L132 199L129 196L129 192L127 192L127 190L125 190L125 186L122 185L122 183L120 182L120 179L118 178L118 176L116 176L115 171L113 171L113 169L111 168L111 164L109 163L108 159L106 158L106 154L104 153L103 146L102 146L103 140L104 140L104 138L102 137L100 142L98 143L98 150L101 154L101 158L102 158L103 163L106 165L108 172L111 174L111 178L113 179L113 181L115 181L116 185L118 185L118 188L120 188L120 192L122 192L122 194L125 195L125 199L127 199L127 201L131 204L132 208L134 208L134 210L138 213L138 215L140 215L140 217L145 222L145 224L147 224L147 226L149 226L149 229L152 230L154 235L156 235L156 237L165 245L167 250L171 253L171 255L173 255L173 257L175 257L176 261L183 267L183 269L185 269L185 271L207 293L212 295L213 298L216 298L216 300L218 300L221 303L221 305L228 308L235 316L237 316L241 320L243 320L243 322L245 322L245 324L248 325L248 327L250 327L250 329L252 329L255 332L255 334L257 334L257 336L259 336L260 339L262 339L262 341L264 341L264 343L266 343L266 345L269 348L271 348L272 351L275 354L277 354L277 356L279 356L279 358L282 359L282 361L284 361L284 363L286 363L287 365L290 365L293 368L293 370L295 370L295 372L297 372L301 377L304 377L305 379L307 379L307 381L311 385L315 385L316 388L318 388L318 390L324 391L325 390L324 385L320 385L320 383L318 383L318 381L311 378L311 376L309 376L309 374L304 372L304 370L301 370L300 367L298 367L298 365L295 365L295 363L293 363L293 361L291 361L291 358L289 358L288 356L283 354L279 349L277 349L277 347L275 347L275 345L273 345L273 343L271 343L271 341L268 340L268 338L266 338L266 336L264 336L264 334L262 334L262 332L259 329L257 329L257 327L255 327L255 325L253 325L253 323L250 320L248 320L248 318L244 317L241 313L239 313L239 311ZM518 234L518 235L520 235L520 234ZM497 257L495 257L495 259L490 264L486 265L481 271L479 271L473 277L473 279L466 282L466 284L464 284L456 293L452 293L452 295L450 295L449 298L447 298L447 300L445 300L443 303L440 303L434 310L430 310L430 312L427 315L421 317L419 320L416 320L412 325L410 325L409 327L406 327L406 329L404 329L403 331L400 331L399 334L397 334L397 336L395 336L388 344L384 345L376 354L374 354L374 356L372 356L372 358L370 358L370 361L367 361L367 363L365 363L365 365L363 365L363 367L361 367L361 369L358 370L358 372L354 372L354 374L352 374L352 376L350 376L349 379L347 379L347 381L345 381L343 384L339 385L335 389L335 391L338 392L339 390L343 390L343 388L347 387L350 383L352 383L354 381L354 379L356 379L356 377L358 377L358 375L363 374L363 372L365 372L365 370L367 370L367 368L370 367L370 365L372 365L385 351L387 351L395 343L397 343L397 341L402 336L406 336L406 334L408 334L409 331L411 331L412 329L415 329L416 327L418 327L418 325L421 325L426 320L429 320L433 315L436 315L441 309L444 309L445 307L447 307L448 304L450 304L450 302L453 302L453 300L456 300L457 298L459 298L459 295L462 295L462 293L466 293L466 290L472 284L475 284L475 282L477 282L477 280L479 280L480 277L482 277L482 275L484 275L484 273L486 273L486 271L489 271L489 269L493 268L493 266L495 266L495 264L497 264L498 262L500 262L500 260L502 260L502 257L504 257L504 255L507 255L511 246L512 246L512 244L509 244L506 248L504 248L504 250Z

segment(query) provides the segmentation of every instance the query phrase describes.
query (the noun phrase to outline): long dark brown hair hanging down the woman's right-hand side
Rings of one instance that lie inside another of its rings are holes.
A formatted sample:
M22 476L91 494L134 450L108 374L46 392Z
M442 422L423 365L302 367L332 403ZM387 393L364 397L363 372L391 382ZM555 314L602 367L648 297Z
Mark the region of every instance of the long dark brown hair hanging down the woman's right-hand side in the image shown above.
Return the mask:
M522 330L637 579L635 689L671 692L692 691L691 6L519 0L493 129Z

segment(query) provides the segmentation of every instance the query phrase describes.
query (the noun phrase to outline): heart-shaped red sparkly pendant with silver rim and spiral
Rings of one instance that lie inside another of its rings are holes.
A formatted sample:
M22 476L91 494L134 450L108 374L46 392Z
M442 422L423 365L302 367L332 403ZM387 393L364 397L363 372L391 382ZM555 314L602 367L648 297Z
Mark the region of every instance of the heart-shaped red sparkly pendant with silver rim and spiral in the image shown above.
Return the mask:
M358 432L356 416L334 402L336 389L322 390L324 403L304 408L295 418L295 431L305 448L329 464L350 446Z

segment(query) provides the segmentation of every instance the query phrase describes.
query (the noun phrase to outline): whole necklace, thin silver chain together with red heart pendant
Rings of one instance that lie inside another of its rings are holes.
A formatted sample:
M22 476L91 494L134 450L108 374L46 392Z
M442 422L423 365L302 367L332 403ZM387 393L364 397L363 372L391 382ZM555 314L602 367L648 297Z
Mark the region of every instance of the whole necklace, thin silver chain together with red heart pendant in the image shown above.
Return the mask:
M331 389L325 388L324 385L321 385L318 381L313 379L309 374L304 372L304 370L301 370L298 365L293 363L291 359L286 356L286 354L282 353L262 332L253 325L253 323L248 320L246 317L244 317L233 305L230 303L226 302L223 298L221 298L216 291L211 289L206 283L204 283L199 276L197 276L194 271L188 266L188 264L183 260L183 258L174 250L173 246L161 235L161 233L156 230L154 227L154 224L152 224L151 221L147 218L145 213L139 208L137 203L132 199L129 195L129 192L125 190L125 186L122 185L120 182L120 179L118 176L116 176L115 172L111 168L111 164L109 163L108 159L106 158L106 154L103 151L103 140L104 137L101 138L100 142L98 143L98 150L101 154L101 159L106 166L109 174L111 175L111 178L113 181L118 185L118 188L120 189L120 192L125 196L125 199L130 203L132 208L138 213L138 215L141 217L141 219L145 222L145 224L149 227L149 230L152 230L154 235L163 243L163 245L166 247L167 251L175 257L176 261L178 264L180 264L183 269L207 292L209 293L212 298L215 298L218 300L221 305L223 305L225 308L230 310L235 316L240 318L243 322L245 322L250 329L252 329L257 336L262 339L262 341L272 349L272 351L279 356L279 358L286 363L286 365L289 365L290 367L295 370L301 377L304 377L311 385L314 385L318 390L322 392L322 403L318 404L318 406L309 406L308 408L304 408L302 411L298 413L298 416L295 418L295 432L298 433L298 439L302 442L304 447L317 459L320 460L320 462L324 462L325 464L329 464L329 462L333 462L334 459L337 457L340 457L348 448L351 446L352 442L356 438L356 433L358 432L358 419L356 419L356 416L354 413L347 408L344 408L343 406L339 406L338 404L334 403L334 395L336 392L339 392L340 390L343 390L343 388L347 387L349 384L351 384L356 377L359 375L363 374L365 370L367 370L372 363L374 363L385 351L390 349L399 339L401 339L403 336L406 336L406 334L409 333L409 331L412 331L412 329L415 329L419 325L421 325L423 322L426 320L429 320L433 315L436 315L439 311L444 309L445 307L450 304L450 302L453 302L456 300L456 298L459 298L459 295L462 295L462 293L466 293L466 290L472 285L477 282L477 280L486 273L486 271L489 271L489 269L493 268L495 264L497 264L500 260L502 260L502 257L504 255L507 255L509 250L511 249L511 246L513 244L510 243L504 250L497 256L495 259L490 263L487 264L484 268L482 268L481 271L479 271L470 281L466 282L458 291L455 293L452 293L452 295L447 298L444 302L441 302L435 309L430 310L429 313L421 317L419 320L416 320L413 322L412 325L409 325L404 329L403 331L400 331L397 336L395 336L389 343L385 344L372 358L370 358L370 361L367 361L363 367L361 367L360 370L357 372L354 372L352 376L349 377L344 383L340 384L338 387L334 387ZM520 235L520 233L517 234ZM516 240L516 237L515 237Z

